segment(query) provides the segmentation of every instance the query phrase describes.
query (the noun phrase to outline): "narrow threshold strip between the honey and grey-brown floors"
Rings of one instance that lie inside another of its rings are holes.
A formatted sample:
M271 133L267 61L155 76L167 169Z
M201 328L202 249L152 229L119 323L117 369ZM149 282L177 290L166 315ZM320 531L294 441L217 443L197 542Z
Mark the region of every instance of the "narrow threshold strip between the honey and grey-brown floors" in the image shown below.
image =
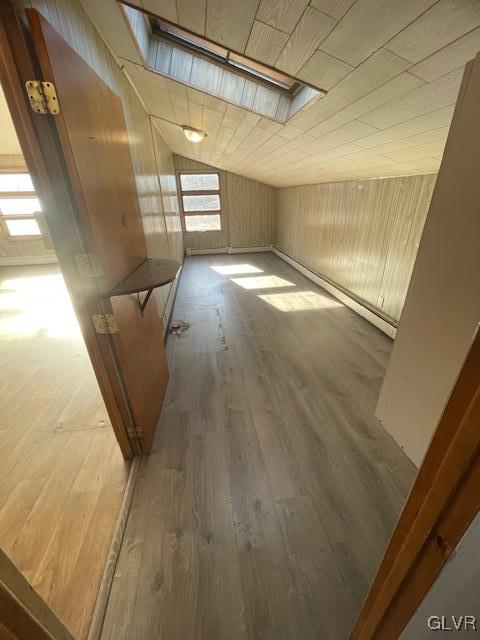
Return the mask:
M141 461L141 456L137 456L132 460L132 465L130 467L130 473L127 480L127 486L125 487L122 506L120 507L120 513L118 514L117 522L115 524L112 542L110 543L110 548L108 550L107 561L103 570L102 580L100 582L100 588L98 590L97 600L95 602L95 608L93 610L87 640L100 640L103 622L105 620L105 614L107 612L108 600L110 598L110 591L112 589L113 578L115 575L115 569L117 566L118 557L120 555L120 549L123 543L123 536L127 527L127 520L130 513L130 507L132 505L133 492L135 489L135 484L137 482Z

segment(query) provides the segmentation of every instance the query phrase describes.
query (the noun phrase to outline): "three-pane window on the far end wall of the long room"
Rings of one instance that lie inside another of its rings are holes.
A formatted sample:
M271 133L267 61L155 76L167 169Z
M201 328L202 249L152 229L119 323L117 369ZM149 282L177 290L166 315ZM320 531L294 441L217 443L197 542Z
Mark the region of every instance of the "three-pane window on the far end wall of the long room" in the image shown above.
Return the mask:
M218 173L181 173L180 191L185 231L221 231Z

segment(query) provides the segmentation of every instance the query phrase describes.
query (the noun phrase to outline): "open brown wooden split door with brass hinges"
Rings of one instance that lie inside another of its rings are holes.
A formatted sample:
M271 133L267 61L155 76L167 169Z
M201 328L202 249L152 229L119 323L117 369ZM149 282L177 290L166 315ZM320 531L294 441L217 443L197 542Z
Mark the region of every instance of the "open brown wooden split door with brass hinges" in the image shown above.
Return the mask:
M142 314L135 295L109 298L146 258L129 137L120 98L35 10L27 10L43 80L55 85L51 116L78 209L87 253L99 257L99 303L114 313L109 336L141 450L148 453L160 416L168 369L163 323L153 301ZM41 117L41 116L38 116Z

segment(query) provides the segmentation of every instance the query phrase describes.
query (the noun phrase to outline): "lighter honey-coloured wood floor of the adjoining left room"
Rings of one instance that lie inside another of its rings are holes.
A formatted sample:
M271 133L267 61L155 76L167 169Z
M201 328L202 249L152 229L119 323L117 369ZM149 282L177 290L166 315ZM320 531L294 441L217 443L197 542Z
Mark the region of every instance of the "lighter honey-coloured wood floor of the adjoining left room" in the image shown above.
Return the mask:
M0 548L85 638L128 475L56 266L0 269Z

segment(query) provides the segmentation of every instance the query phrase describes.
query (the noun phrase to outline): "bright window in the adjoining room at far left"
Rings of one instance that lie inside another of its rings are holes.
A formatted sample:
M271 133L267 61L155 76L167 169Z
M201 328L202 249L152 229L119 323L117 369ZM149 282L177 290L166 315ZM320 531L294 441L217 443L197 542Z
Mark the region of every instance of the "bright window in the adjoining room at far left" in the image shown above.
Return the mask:
M0 173L0 223L9 238L41 236L40 211L28 173Z

